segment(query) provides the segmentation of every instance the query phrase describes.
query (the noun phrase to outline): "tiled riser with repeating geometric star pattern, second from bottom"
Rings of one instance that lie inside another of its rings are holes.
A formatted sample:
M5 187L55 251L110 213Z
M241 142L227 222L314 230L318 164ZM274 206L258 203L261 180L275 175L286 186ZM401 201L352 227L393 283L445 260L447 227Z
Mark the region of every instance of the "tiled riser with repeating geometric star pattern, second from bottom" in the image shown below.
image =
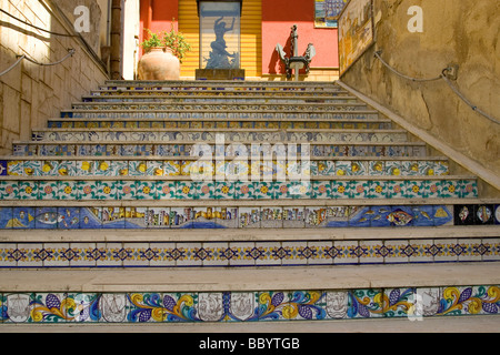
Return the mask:
M500 237L0 244L0 268L318 266L500 261Z

